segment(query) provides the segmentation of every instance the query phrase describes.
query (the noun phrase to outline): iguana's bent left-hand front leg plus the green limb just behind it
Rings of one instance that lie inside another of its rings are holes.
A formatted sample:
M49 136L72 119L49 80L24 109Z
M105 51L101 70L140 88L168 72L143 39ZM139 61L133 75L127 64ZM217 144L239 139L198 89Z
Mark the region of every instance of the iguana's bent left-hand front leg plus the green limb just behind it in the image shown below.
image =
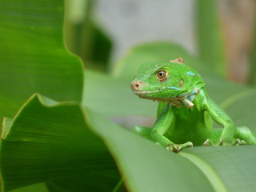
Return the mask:
M163 135L169 129L173 118L174 110L169 104L167 104L166 107L162 110L162 113L158 115L158 119L154 123L152 129L142 126L135 126L134 132L142 135L145 138L151 138L152 140L154 140L154 142L165 146L167 150L173 150L174 152L178 152L179 150L182 150L187 146L193 146L192 142L174 144L174 142L171 142Z

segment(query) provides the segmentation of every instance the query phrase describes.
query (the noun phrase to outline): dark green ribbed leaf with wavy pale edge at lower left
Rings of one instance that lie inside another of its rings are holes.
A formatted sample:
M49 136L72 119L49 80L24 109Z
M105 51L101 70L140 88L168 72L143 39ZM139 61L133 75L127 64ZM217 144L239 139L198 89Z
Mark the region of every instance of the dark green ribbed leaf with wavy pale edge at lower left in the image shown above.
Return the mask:
M80 185L87 189L114 189L118 172L113 158L102 140L89 130L78 104L49 101L34 95L11 123L3 122L3 190L70 177L83 178ZM110 182L98 186L95 177Z

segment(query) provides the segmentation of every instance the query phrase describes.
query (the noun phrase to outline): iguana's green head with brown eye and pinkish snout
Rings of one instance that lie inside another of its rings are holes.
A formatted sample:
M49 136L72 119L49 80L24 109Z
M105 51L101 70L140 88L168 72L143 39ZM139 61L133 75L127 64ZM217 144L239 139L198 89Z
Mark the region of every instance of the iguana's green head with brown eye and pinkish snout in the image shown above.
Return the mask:
M200 74L186 66L182 58L144 63L131 82L134 94L140 98L186 107L193 106L192 101L203 86Z

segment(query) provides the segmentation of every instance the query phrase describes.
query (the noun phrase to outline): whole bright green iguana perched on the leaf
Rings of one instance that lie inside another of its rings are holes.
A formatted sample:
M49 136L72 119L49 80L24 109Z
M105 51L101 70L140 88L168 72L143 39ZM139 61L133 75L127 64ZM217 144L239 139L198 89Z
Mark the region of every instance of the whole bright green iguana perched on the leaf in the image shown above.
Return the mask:
M246 126L232 119L206 93L198 72L182 58L149 62L139 67L131 82L134 94L158 101L153 128L135 126L134 132L178 152L187 146L256 145ZM212 129L212 120L222 128Z

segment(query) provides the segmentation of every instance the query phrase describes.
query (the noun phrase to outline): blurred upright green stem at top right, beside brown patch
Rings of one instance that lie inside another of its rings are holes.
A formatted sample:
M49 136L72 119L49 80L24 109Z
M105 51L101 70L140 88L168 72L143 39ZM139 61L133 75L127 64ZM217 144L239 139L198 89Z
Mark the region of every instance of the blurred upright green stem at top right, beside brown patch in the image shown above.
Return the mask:
M225 47L217 4L214 0L196 2L198 49L202 62L222 77L226 77Z

